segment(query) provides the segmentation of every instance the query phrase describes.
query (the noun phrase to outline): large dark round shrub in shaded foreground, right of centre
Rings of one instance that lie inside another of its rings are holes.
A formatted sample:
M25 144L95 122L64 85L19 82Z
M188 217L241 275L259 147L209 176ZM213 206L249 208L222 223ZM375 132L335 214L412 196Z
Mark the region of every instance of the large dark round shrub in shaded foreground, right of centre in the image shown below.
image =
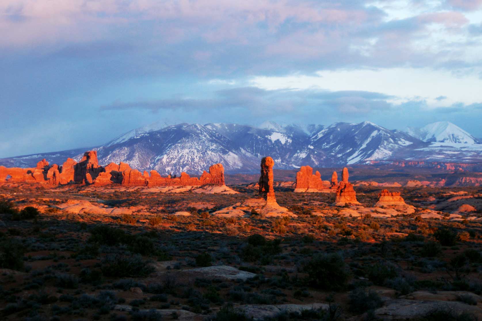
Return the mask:
M315 256L303 270L308 273L310 285L324 290L341 290L348 282L345 260L337 253Z

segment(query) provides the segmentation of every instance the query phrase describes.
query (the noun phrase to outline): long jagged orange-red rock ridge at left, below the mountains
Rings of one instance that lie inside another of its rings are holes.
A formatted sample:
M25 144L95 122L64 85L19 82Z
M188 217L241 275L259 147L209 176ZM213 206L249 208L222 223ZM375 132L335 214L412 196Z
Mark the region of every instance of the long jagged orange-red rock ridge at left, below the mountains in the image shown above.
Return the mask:
M67 158L60 167L57 164L50 166L45 159L38 162L35 168L0 166L0 182L32 182L54 186L66 184L94 184L95 186L109 184L122 186L225 185L222 164L214 164L209 167L209 173L204 171L200 178L190 177L184 172L180 177L172 178L170 175L161 177L155 170L141 173L123 162L110 163L106 167L102 167L98 163L97 151L85 152L79 163L72 158Z

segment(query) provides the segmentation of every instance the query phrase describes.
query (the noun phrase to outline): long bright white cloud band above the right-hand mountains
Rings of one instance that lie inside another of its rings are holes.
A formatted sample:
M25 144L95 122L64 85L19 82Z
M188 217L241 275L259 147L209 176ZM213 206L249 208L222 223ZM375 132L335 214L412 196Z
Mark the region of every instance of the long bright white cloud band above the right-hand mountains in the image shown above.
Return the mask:
M318 71L317 76L254 77L251 85L265 90L362 90L380 92L396 98L394 103L426 100L429 107L452 103L481 103L482 79L478 72L457 75L429 68L386 68ZM437 97L447 96L440 101Z

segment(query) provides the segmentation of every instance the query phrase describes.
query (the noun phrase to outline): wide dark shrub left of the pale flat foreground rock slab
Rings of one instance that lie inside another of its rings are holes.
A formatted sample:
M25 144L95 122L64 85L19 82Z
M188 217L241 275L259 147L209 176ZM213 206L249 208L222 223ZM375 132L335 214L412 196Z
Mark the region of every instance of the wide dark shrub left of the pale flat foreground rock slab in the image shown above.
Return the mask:
M140 255L111 254L101 261L102 274L107 277L140 277L154 271Z

